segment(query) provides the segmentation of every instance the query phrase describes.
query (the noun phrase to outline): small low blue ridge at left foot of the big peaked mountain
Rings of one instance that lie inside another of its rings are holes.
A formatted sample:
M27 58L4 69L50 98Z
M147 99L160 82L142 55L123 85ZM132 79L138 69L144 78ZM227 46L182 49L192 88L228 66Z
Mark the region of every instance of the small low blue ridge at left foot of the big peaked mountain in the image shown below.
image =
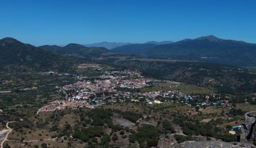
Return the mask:
M138 55L138 53L143 53L147 49L150 49L155 46L157 46L157 45L156 44L131 44L131 45L124 45L121 47L117 47L112 50Z

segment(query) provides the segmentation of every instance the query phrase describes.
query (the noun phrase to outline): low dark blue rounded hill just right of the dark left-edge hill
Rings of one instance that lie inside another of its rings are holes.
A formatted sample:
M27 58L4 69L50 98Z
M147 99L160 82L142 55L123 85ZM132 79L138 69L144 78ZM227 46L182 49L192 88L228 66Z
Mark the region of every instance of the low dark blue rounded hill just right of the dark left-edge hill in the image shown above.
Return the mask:
M92 56L92 55L99 55L100 53L109 51L104 47L85 47L83 45L73 44L73 43L68 44L65 47L60 47L56 45L53 45L53 46L44 45L44 46L40 46L39 48L53 51L60 55L71 55L71 56Z

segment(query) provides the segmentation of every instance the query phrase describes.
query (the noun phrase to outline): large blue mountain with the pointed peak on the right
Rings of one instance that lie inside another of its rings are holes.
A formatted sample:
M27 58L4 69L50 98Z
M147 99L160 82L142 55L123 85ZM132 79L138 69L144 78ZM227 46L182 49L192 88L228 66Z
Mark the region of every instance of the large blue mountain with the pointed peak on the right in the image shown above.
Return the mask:
M213 35L155 46L124 45L112 50L132 53L143 58L193 60L252 67L256 65L256 44L221 39Z

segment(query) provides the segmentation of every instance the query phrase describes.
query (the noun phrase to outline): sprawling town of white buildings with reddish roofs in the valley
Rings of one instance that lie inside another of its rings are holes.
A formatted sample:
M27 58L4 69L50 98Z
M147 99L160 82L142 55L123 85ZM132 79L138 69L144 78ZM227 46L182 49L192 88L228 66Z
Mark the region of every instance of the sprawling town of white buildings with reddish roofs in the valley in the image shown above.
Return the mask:
M122 102L146 102L148 104L175 102L188 106L217 106L231 109L229 100L221 99L220 94L217 93L185 94L178 90L140 90L163 83L170 83L169 87L174 89L183 85L178 82L146 78L139 71L107 71L98 79L85 79L63 87L56 86L59 93L65 93L65 99L50 102L41 107L38 112L61 110L68 106L94 108L95 105Z

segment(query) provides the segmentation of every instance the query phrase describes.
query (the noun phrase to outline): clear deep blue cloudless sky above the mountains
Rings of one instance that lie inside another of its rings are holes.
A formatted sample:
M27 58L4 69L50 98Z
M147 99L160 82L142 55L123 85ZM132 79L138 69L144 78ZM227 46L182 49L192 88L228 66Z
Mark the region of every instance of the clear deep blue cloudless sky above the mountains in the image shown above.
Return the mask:
M256 43L255 0L0 0L0 38L35 46L179 41Z

